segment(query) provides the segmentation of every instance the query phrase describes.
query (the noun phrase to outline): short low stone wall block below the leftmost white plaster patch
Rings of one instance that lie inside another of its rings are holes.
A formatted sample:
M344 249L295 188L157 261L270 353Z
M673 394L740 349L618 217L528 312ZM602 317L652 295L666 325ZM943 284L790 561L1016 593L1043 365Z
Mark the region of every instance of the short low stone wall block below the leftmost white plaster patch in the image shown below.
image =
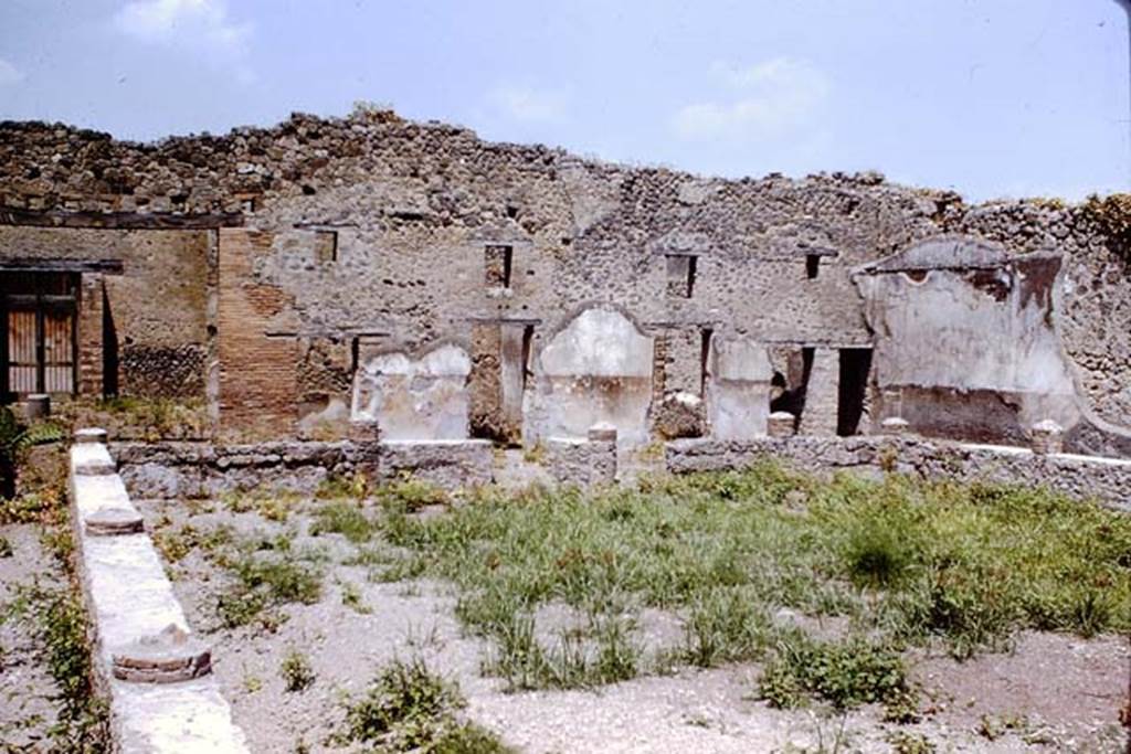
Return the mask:
M411 476L446 489L490 484L494 448L489 440L382 440L377 450L378 478Z

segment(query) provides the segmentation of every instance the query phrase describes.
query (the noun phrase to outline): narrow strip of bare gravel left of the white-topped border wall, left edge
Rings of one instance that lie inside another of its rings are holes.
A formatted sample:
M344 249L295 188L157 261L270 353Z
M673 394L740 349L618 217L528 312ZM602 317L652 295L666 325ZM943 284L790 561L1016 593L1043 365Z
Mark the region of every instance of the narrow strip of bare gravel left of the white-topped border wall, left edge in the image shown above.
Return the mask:
M48 751L48 728L55 719L51 697L59 688L37 652L26 619L8 616L8 606L21 584L36 579L62 584L66 574L40 545L40 527L0 526L0 537L12 548L0 557L0 752ZM43 743L41 743L43 742Z

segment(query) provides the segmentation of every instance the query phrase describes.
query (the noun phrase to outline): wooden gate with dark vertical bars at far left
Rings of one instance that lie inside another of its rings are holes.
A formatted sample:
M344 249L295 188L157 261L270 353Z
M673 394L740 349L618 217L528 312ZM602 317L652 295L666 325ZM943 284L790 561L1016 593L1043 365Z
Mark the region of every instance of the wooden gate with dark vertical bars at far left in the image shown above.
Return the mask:
M74 393L78 384L79 276L0 274L0 393Z

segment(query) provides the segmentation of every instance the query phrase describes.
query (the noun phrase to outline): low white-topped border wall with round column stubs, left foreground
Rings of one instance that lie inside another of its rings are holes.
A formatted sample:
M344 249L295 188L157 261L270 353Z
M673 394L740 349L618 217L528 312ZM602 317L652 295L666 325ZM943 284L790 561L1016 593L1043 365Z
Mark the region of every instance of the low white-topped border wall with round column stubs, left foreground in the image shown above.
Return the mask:
M114 742L126 753L247 753L210 653L192 636L104 441L101 431L78 433L69 483L92 660Z

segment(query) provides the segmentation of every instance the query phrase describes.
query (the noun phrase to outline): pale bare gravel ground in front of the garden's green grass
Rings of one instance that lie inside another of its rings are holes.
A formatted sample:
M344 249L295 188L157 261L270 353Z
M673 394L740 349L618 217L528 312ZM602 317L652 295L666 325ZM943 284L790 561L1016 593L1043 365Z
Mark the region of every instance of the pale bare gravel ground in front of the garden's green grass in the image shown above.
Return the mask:
M759 674L753 665L685 669L598 691L504 693L500 681L481 674L490 647L463 635L455 593L444 584L372 583L364 567L343 564L354 547L340 535L303 536L309 521L301 514L283 525L218 504L196 514L175 502L141 501L139 508L150 528L165 530L190 520L199 530L227 523L244 536L290 528L297 531L292 548L323 558L321 600L286 606L287 619L274 632L219 627L216 598L228 577L200 548L171 567L190 622L213 643L215 671L256 752L335 751L326 739L342 723L344 701L362 693L389 660L413 656L459 684L472 719L532 753L834 751L836 739L848 744L839 751L890 752L892 735L925 736L941 752L1124 746L1116 721L1129 653L1121 639L1026 634L1012 655L964 664L913 657L929 713L909 726L884 723L881 710L870 708L845 718L774 710L751 699ZM360 595L360 604L347 604L346 590ZM642 623L658 626L661 638L673 634L664 616ZM302 692L287 692L279 671L293 651L305 656L316 677Z

